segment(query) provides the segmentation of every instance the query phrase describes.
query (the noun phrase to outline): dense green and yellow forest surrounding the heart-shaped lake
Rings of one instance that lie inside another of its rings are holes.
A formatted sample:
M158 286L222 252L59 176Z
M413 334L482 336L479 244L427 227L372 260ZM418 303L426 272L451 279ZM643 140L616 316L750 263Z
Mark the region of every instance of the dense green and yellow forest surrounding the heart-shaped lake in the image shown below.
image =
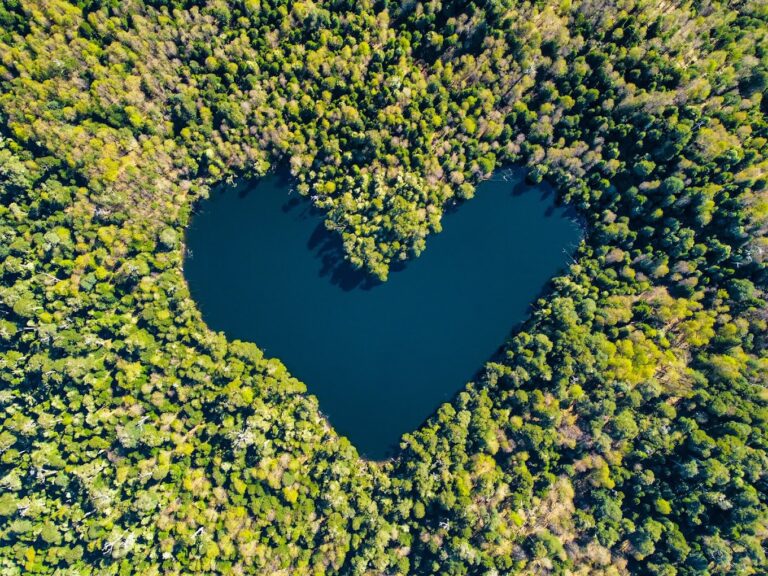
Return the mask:
M0 0L0 573L768 573L766 112L765 0ZM586 237L391 460L189 295L221 183L385 280L513 163Z

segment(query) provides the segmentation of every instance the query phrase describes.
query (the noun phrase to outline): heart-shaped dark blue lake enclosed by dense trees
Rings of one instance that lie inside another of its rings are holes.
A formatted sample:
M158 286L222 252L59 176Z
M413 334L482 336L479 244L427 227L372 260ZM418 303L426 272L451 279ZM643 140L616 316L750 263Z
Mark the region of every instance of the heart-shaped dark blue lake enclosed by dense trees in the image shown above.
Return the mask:
M567 265L578 227L522 169L478 187L386 283L351 270L320 213L276 176L217 191L184 270L213 330L280 358L369 458L449 400Z

